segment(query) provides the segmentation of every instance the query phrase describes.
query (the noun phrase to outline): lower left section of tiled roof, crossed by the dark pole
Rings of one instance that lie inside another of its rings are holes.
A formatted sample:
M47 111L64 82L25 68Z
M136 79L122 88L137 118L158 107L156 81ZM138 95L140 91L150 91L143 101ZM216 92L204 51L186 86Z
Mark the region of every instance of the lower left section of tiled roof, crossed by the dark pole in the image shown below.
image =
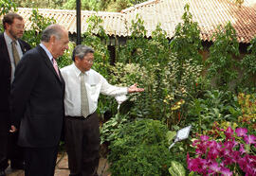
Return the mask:
M54 18L58 24L65 26L65 28L70 33L75 33L77 31L76 10L38 9L38 12L44 17ZM25 18L26 27L29 28L31 24L28 19L32 14L32 9L19 8L18 13ZM86 23L87 19L92 15L97 15L97 16L100 16L101 19L103 20L103 23L101 25L104 27L108 35L117 35L117 36L127 35L125 33L126 31L125 26L121 25L121 24L124 24L123 14L121 13L82 10L81 15L82 15L82 19L81 19L82 33L85 32L87 29L87 23Z

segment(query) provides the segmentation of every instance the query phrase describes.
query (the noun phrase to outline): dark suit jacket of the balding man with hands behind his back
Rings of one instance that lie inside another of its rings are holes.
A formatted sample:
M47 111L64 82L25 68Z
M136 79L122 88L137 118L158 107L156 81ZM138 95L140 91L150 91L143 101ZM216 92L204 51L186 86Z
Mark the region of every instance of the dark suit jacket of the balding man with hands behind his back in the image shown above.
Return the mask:
M64 79L60 76L40 45L27 51L17 65L10 105L12 124L20 132L20 146L46 148L59 144L64 120Z

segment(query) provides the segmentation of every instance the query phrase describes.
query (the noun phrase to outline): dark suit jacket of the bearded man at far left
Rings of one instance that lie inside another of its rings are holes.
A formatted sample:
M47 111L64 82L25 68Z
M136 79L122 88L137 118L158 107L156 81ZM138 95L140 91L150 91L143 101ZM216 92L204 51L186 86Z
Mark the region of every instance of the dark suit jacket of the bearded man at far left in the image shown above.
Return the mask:
M18 40L23 53L31 47L22 40ZM10 93L11 65L9 60L8 47L4 38L4 33L0 34L0 113L9 114L9 93ZM1 118L1 116L0 116Z

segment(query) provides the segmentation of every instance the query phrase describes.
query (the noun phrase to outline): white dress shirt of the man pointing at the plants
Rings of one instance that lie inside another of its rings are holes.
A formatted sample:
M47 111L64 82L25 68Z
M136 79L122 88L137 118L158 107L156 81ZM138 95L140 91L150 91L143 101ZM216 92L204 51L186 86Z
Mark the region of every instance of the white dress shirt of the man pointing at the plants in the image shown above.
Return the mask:
M81 71L73 63L61 69L65 81L64 111L65 115L82 116L81 114ZM100 93L107 96L123 96L127 87L117 87L109 84L100 73L93 69L84 73L84 83L87 91L89 114L97 110Z

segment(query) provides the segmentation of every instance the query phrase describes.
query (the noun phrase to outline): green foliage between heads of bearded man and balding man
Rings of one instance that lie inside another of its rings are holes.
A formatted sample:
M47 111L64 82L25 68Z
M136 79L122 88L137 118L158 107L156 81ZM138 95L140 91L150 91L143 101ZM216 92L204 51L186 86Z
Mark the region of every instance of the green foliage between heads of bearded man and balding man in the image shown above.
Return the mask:
M29 30L26 30L23 39L32 47L40 44L42 31L51 24L55 24L56 21L53 18L46 18L39 14L37 9L32 10L32 14L29 17L31 26Z

